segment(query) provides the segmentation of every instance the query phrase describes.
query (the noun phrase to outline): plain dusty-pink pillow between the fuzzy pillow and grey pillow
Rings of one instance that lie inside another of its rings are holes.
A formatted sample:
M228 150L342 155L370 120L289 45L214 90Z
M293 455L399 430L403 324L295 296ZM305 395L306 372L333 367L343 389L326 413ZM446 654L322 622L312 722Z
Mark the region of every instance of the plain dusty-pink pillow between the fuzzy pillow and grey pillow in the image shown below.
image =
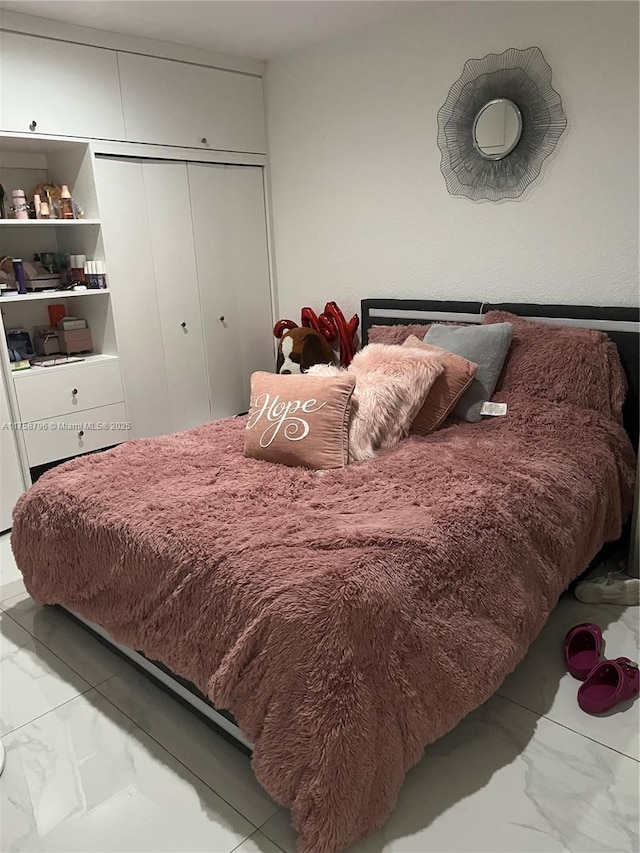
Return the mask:
M405 347L418 347L440 358L442 373L436 378L422 408L411 424L411 432L427 435L438 429L453 411L478 372L478 365L441 347L425 344L415 335L404 342Z

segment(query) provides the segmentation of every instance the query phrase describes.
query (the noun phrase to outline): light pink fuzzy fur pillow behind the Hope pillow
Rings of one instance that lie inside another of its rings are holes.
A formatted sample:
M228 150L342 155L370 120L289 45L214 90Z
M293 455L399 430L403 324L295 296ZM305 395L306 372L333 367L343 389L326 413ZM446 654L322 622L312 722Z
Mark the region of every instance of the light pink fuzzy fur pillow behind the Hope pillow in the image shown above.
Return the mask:
M349 455L359 462L388 450L409 434L433 383L442 373L441 357L412 347L369 344L356 353L347 374L355 375L349 424ZM311 375L344 374L314 365ZM308 375L309 375L308 374Z

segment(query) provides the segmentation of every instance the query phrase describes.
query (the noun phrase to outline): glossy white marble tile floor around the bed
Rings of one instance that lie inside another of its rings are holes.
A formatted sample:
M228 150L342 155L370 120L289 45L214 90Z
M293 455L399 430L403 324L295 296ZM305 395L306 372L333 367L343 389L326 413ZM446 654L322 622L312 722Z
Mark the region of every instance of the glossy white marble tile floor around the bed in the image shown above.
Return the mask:
M640 608L561 599L496 696L425 751L353 853L637 853L639 711L580 711L567 629L638 658ZM0 537L0 851L295 853L249 759L64 614Z

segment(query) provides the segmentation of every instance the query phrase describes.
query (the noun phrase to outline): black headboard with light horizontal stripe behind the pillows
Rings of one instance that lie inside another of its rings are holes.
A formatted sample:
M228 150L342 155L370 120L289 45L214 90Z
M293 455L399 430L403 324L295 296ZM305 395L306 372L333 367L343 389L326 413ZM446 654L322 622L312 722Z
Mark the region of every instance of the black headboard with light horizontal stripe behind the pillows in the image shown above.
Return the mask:
M429 299L363 299L362 344L367 343L371 326L408 323L481 323L487 311L510 311L520 317L562 326L582 326L606 332L618 347L627 374L629 391L624 407L624 424L634 448L638 449L638 409L640 407L640 309L593 305L531 305L520 302L444 302Z

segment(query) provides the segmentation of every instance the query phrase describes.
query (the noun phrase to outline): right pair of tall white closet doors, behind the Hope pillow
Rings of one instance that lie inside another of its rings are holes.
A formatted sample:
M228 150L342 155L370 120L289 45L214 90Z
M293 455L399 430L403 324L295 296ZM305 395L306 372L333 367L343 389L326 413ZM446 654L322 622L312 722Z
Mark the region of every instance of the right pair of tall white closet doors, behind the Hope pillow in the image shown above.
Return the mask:
M188 166L211 410L245 412L251 374L275 369L262 169Z

